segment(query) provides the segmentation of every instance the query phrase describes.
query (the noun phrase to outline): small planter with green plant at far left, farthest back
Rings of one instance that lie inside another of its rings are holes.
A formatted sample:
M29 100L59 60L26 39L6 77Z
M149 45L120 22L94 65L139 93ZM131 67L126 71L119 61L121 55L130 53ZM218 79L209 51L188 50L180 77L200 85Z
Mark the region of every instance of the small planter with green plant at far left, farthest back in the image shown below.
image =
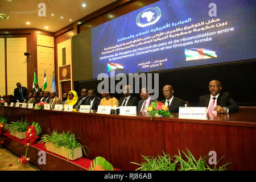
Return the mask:
M17 137L19 139L26 138L27 127L28 127L28 123L26 121L25 122L23 122L23 121L11 122L8 125L10 135L13 135L14 137Z

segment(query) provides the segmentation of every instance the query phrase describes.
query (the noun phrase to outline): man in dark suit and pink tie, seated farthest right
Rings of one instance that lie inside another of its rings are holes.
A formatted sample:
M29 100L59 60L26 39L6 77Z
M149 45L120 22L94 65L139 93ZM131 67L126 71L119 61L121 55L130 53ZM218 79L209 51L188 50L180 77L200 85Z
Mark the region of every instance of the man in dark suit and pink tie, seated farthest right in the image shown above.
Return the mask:
M238 111L236 101L228 92L221 92L221 82L212 80L209 82L209 92L199 97L198 106L208 107L208 113L233 113Z

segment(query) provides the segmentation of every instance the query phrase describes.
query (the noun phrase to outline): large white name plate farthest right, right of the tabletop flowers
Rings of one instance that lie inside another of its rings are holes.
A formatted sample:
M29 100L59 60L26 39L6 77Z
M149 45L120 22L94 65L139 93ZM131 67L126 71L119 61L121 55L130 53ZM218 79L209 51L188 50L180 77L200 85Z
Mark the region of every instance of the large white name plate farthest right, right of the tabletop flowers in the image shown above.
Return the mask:
M179 107L179 118L207 120L207 107Z

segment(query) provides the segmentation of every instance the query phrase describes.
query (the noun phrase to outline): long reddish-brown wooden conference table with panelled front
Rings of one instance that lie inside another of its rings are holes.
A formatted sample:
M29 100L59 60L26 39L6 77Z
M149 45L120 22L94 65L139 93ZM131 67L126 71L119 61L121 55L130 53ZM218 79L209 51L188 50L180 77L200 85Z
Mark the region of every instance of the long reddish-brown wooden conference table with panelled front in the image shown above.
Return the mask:
M144 156L171 156L189 151L198 159L215 151L220 164L232 162L228 170L256 169L256 108L242 107L237 113L208 115L208 120L35 110L0 106L0 116L9 121L38 122L42 134L72 131L88 147L86 156L102 156L115 168L134 170ZM209 165L209 164L208 164ZM209 165L213 167L213 165Z

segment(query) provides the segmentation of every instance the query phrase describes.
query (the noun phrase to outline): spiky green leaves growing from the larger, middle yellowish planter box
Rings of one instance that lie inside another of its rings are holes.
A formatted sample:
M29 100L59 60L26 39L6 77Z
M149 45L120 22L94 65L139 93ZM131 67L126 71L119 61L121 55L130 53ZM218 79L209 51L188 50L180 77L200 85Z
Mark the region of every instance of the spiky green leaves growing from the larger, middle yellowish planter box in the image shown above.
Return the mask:
M63 131L63 133L59 134L56 130L53 130L52 133L49 131L49 134L43 135L41 137L40 143L49 142L53 144L55 148L63 147L63 150L61 150L60 152L64 152L65 150L71 150L70 152L68 152L68 159L69 155L73 156L74 150L79 147L81 147L84 151L84 154L87 155L84 146L77 142L76 139L77 138L75 138L75 134L72 134L71 131L68 131L67 133Z

